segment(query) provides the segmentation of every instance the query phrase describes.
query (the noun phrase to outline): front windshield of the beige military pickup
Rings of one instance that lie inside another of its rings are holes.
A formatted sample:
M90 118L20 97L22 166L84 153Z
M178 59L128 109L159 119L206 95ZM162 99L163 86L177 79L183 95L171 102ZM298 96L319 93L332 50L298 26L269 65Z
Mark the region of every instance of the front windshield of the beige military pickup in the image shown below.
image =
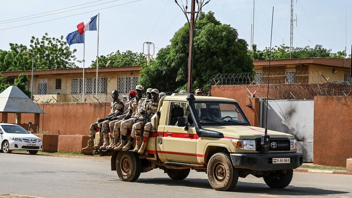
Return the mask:
M250 125L237 103L201 102L194 106L202 126Z

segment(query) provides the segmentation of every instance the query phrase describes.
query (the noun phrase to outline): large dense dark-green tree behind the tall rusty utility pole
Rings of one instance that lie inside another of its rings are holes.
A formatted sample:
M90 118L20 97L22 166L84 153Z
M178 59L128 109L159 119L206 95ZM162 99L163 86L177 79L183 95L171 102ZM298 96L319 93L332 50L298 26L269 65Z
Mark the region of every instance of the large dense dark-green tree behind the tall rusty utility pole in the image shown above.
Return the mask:
M188 78L189 26L184 24L159 50L156 60L141 70L140 83L161 91L185 89ZM236 29L216 20L213 12L201 13L194 30L193 88L202 88L218 73L252 72L247 42Z

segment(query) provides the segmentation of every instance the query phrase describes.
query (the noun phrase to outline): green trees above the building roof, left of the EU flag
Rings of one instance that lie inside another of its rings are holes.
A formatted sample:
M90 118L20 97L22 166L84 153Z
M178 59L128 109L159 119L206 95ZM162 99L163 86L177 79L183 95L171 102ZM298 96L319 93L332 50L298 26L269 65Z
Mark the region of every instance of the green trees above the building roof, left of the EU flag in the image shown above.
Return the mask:
M77 67L74 55L76 49L70 50L63 36L51 38L48 33L39 39L32 36L29 47L10 43L10 50L0 50L0 71L20 71L32 69L32 57L25 53L30 51L34 57L34 69L65 69ZM80 62L80 61L77 61Z

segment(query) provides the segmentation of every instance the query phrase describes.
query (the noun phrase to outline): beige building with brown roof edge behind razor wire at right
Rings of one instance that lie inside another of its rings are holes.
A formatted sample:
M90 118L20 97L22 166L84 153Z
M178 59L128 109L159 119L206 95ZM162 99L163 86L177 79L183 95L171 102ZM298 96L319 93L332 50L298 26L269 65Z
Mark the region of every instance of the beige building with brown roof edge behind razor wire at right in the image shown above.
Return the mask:
M258 83L268 81L269 60L253 61ZM294 58L270 61L270 83L324 83L350 81L351 59Z

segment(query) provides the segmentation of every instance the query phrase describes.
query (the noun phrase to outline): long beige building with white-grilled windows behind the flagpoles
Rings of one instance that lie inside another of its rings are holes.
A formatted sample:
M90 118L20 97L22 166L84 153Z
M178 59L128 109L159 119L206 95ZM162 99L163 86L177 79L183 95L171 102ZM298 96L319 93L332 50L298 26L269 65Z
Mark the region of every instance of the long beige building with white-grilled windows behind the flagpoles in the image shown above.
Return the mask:
M135 89L139 80L140 66L108 67L98 69L98 99L111 100L111 91L116 89L121 95ZM25 73L29 81L26 89L31 88L31 71L1 72L2 76L15 76ZM33 72L33 98L37 102L96 101L96 68L35 70Z

